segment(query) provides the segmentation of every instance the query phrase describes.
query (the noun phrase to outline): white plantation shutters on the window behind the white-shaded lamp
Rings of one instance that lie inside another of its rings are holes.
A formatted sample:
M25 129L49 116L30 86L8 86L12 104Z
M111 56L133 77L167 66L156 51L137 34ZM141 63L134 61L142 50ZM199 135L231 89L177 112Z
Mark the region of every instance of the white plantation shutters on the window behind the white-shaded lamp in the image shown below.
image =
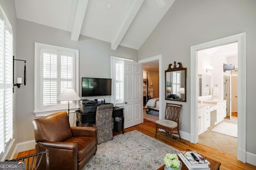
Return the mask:
M40 98L40 108L35 110L67 108L68 101L57 101L57 97L65 88L76 88L76 52L72 53L72 51L65 51L55 46L47 48L47 45L44 48L38 47L38 49L40 51L40 63L38 64L40 78L35 77L35 80L40 82L41 88L38 90L39 94L36 94ZM74 106L72 103L70 101L70 107Z

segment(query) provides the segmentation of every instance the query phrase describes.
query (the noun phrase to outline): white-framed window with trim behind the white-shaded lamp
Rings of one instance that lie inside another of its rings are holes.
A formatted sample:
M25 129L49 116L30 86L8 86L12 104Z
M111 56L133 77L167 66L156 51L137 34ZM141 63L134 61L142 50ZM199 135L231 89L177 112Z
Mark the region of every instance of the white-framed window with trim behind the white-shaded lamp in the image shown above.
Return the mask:
M78 93L78 50L35 43L35 114L66 109L67 101L57 101L65 88Z

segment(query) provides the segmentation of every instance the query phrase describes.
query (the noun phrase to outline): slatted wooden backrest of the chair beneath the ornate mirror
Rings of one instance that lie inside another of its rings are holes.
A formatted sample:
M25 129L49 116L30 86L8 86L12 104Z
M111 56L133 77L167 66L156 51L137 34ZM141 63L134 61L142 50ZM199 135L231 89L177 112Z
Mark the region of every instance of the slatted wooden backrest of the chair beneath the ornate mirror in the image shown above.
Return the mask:
M175 121L179 124L181 107L182 104L166 103L165 119Z

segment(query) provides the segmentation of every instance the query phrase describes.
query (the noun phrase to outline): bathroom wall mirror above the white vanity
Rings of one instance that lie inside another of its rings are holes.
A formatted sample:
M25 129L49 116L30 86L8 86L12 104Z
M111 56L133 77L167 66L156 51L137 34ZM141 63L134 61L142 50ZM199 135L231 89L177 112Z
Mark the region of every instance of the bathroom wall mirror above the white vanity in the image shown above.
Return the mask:
M212 76L198 74L198 96L212 95Z

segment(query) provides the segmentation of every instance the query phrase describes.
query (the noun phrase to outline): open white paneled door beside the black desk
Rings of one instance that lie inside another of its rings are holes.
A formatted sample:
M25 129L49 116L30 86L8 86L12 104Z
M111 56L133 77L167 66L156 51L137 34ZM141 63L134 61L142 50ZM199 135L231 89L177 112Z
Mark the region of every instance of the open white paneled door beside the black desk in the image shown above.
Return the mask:
M142 123L142 64L124 61L124 128Z

